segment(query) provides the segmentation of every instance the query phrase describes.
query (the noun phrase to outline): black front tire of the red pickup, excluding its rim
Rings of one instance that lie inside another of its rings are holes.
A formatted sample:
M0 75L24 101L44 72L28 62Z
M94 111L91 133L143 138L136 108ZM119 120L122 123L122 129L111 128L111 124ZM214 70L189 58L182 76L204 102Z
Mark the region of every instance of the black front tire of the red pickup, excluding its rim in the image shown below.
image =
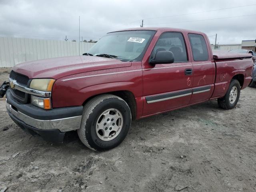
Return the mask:
M96 133L96 124L100 115L108 109L117 109L123 117L120 132L115 138L104 141ZM128 104L120 97L103 94L89 100L83 110L80 129L77 131L82 143L95 151L104 151L118 146L130 130L132 121L131 111Z

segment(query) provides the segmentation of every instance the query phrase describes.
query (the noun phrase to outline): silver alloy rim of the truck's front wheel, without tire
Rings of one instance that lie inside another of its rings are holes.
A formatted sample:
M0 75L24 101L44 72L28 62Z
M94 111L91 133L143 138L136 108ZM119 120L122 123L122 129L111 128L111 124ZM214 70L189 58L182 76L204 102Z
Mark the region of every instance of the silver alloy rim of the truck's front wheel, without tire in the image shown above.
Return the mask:
M103 141L113 140L122 130L124 118L117 109L108 109L98 117L96 134Z

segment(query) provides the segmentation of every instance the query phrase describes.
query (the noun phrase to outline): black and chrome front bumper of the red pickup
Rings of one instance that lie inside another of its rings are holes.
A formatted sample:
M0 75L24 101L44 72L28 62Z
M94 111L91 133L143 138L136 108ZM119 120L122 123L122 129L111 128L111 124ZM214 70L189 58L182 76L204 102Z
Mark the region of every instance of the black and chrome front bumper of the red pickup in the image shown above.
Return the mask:
M6 108L21 128L33 130L41 136L54 134L60 138L64 137L64 132L80 128L83 110L83 106L44 110L32 104L22 104L12 97L10 90L6 92Z

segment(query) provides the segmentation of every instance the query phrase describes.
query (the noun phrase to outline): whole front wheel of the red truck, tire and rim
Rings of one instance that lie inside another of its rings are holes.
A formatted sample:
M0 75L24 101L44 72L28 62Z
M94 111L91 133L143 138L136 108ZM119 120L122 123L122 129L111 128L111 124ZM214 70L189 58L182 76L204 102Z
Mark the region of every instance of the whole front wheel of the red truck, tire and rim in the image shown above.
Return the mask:
M95 151L118 146L131 126L131 111L120 97L104 94L92 98L85 106L78 136Z

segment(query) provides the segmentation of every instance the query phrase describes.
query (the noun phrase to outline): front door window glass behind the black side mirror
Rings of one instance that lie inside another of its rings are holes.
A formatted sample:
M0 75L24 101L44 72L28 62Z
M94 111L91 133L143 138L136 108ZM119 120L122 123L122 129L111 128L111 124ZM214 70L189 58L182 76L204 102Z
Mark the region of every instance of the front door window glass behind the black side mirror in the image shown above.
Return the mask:
M171 51L174 55L174 62L188 62L184 37L180 32L164 32L158 38L152 51L152 56L158 51Z

